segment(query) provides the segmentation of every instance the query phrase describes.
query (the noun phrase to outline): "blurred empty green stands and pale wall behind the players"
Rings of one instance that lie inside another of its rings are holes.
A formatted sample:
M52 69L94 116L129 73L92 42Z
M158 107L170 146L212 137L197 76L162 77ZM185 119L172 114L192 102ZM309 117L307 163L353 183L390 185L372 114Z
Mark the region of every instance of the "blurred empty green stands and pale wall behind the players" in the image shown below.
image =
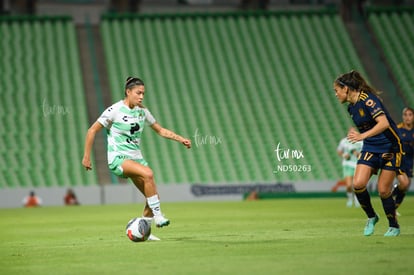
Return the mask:
M0 1L0 207L143 201L107 168L106 134L84 171L84 137L123 98L193 148L144 131L164 201L331 192L352 125L333 80L360 71L396 122L414 106L414 1ZM282 158L281 158L282 156Z

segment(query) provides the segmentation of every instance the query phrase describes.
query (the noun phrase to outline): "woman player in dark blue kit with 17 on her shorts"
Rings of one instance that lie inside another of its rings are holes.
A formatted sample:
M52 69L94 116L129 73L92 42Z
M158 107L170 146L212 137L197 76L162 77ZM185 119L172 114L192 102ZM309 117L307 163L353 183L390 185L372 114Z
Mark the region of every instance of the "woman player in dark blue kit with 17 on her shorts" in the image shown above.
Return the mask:
M340 75L333 86L338 100L349 103L348 112L358 128L358 131L348 133L348 139L351 142L363 140L354 175L354 191L368 216L364 235L372 235L379 220L372 207L367 184L370 177L380 170L378 192L389 223L384 236L398 236L400 226L392 197L392 184L399 173L403 149L397 126L378 97L378 91L368 85L359 72L351 71Z

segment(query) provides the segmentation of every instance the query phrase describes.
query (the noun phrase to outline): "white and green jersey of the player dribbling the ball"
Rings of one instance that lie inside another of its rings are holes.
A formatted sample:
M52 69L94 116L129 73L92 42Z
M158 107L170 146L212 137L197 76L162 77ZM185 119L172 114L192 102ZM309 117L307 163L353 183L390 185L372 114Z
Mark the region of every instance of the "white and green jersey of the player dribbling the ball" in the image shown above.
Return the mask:
M146 108L129 108L121 100L107 108L98 122L108 129L108 163L117 156L127 159L142 159L140 149L141 135L145 123L156 122Z

